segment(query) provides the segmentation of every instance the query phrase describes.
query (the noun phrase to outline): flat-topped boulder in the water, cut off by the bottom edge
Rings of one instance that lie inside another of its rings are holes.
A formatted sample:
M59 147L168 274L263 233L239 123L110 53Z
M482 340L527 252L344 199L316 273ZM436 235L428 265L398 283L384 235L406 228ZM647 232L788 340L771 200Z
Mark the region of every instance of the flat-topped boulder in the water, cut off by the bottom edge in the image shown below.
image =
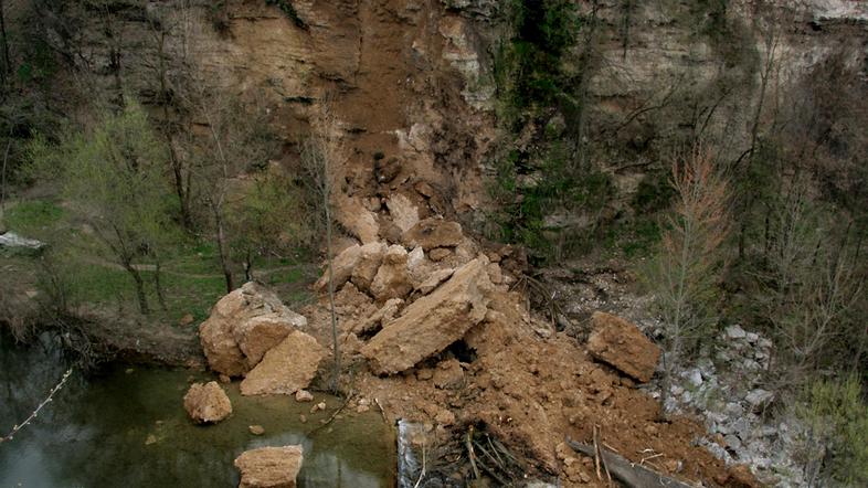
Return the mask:
M235 458L239 488L295 488L304 460L301 446L261 447Z

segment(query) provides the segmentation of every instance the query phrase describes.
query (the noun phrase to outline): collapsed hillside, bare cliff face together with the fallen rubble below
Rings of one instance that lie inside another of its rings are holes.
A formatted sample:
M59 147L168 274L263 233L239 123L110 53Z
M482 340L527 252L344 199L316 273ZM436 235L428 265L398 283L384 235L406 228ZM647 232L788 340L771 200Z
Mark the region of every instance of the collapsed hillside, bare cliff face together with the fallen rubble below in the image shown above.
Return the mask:
M390 420L428 423L442 444L468 425L484 426L541 474L570 484L601 484L588 458L563 444L567 436L590 442L595 425L623 456L653 456L674 476L752 482L695 447L705 436L698 425L660 422L659 406L635 389L635 379L591 360L583 342L520 306L528 297L514 285L527 269L522 251L477 235L490 203L487 177L501 152L515 145L521 189L531 191L544 178L533 156L550 142L541 135L554 127L560 137L561 115L553 112L523 118L518 134L498 126L496 54L510 35L498 2L299 0L284 3L292 15L268 2L207 3L117 2L108 19L70 2L61 13L75 20L74 29L51 17L44 22L57 34L54 49L91 73L100 91L120 89L123 81L155 110L166 100L152 71L166 57L173 61L170 74L194 65L232 92L262 96L282 135L278 162L286 168L298 167L303 139L330 107L345 148L332 204L348 237L335 261L343 266L339 325L358 395L353 407L374 401ZM848 35L864 35L861 8L838 3L808 2L824 7L813 18L788 10L776 18L785 32L776 45L788 62L776 88ZM738 2L724 17L748 23L749 4ZM592 102L584 117L596 125L579 139L590 141L588 153L615 195L604 209L553 209L542 216L547 231L584 232L596 220L632 212L645 169L685 131L720 129L732 159L751 136L755 62L768 57L765 40L745 42L743 52L727 49L721 32L696 41L690 23L714 18L686 2L621 7L582 3L603 34L589 44L594 62L580 77ZM614 35L620 25L626 29ZM682 97L686 87L698 95ZM684 121L690 114L692 126ZM325 303L303 311L308 330L329 346ZM413 325L431 317L441 320L416 337Z

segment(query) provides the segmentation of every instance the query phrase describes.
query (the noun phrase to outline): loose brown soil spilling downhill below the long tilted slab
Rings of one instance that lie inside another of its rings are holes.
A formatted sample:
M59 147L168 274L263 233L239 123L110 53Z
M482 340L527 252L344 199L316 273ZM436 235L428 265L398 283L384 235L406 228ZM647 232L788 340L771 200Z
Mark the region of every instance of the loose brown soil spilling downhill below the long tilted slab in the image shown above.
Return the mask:
M350 323L353 310L366 308L354 297L354 304L339 304L340 323ZM352 344L345 343L343 361L353 371L347 389L356 402L379 403L391 421L430 424L441 443L468 425L484 425L541 476L555 475L563 486L605 486L589 458L563 445L567 436L590 444L594 425L605 446L631 460L653 456L645 465L661 473L705 486L740 486L720 460L694 446L705 435L700 425L688 418L660 421L657 401L633 380L594 362L575 339L534 332L533 326L546 326L522 303L516 293L496 293L490 308L499 314L489 314L467 335L466 351L453 348L394 376L371 374ZM304 312L321 343L330 343L326 304ZM448 368L456 357L463 373L456 376ZM452 417L444 411L454 415L454 425L443 425Z

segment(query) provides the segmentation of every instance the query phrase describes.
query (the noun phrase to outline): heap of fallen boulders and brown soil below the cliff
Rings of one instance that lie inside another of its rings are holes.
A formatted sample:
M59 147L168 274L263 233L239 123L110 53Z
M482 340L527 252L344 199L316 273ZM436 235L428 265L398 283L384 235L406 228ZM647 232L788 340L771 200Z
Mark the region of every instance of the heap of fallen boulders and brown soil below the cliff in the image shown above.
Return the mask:
M673 477L753 482L696 446L700 425L664 421L658 402L637 389L659 350L634 325L595 317L597 362L585 343L529 310L510 290L523 266L516 250L484 247L457 223L430 218L394 241L352 244L334 265L342 361L353 370L350 411L375 404L390 421L421 423L430 445L485 428L533 466L531 476L563 486L605 485L593 460L564 444L568 436L590 444L595 427L612 450ZM327 284L317 284L322 300L303 310L324 346ZM456 485L474 477L454 470Z

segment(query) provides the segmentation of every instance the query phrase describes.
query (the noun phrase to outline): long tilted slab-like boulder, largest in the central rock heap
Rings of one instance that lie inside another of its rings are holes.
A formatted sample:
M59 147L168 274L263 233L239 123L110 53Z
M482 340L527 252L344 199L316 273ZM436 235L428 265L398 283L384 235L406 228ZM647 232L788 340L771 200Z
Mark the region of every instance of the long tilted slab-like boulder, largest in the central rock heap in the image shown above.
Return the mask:
M431 295L404 309L374 336L361 353L377 374L394 374L443 351L481 322L488 311L488 258L479 256L456 269Z

